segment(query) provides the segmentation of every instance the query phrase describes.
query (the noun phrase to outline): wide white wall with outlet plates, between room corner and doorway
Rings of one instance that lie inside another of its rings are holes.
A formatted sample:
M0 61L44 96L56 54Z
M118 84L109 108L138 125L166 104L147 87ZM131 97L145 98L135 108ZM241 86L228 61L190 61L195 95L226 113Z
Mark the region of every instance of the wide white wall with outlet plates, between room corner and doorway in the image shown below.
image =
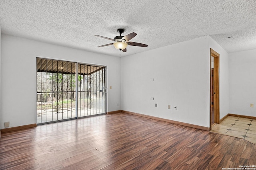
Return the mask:
M122 110L210 127L209 51L206 36L122 57Z

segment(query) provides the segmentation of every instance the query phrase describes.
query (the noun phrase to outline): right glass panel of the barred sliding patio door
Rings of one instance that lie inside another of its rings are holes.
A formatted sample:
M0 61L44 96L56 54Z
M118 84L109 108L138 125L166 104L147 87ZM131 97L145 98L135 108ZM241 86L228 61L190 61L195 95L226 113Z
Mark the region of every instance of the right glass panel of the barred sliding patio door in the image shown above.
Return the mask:
M78 117L106 113L105 67L78 64Z

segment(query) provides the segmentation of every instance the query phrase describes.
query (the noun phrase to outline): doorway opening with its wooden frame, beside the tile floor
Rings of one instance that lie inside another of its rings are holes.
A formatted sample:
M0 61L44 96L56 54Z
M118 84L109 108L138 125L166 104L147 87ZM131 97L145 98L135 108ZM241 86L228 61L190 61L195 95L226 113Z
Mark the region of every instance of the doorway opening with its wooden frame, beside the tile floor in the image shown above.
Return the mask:
M219 57L220 54L210 48L210 125L220 123L220 93L219 93Z

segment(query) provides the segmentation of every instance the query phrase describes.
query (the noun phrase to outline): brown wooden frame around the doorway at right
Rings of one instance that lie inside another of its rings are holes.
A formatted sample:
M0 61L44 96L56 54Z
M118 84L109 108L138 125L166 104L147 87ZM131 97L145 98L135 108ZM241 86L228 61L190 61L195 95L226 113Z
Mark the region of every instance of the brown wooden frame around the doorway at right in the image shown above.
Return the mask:
M210 48L210 62L212 62L211 57L213 57L213 80L214 80L214 101L213 101L213 107L214 107L214 123L220 123L220 90L219 90L219 73L220 73L220 54L214 51L213 49ZM212 68L210 67L210 70ZM212 74L212 71L210 71L210 74ZM210 75L211 78L212 75ZM212 86L212 84L210 85ZM212 89L212 87L210 88ZM211 92L211 91L210 91ZM212 98L212 94L211 94ZM212 119L211 117L211 108L212 107L212 99L210 101L210 121ZM211 125L211 123L210 123ZM212 125L211 125L212 127Z

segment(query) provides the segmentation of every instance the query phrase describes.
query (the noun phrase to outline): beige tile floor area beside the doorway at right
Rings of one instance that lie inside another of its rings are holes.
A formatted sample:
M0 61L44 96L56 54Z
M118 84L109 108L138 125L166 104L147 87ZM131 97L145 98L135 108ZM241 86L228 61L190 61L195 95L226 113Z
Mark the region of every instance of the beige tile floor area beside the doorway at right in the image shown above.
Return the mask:
M211 132L238 137L256 145L256 119L228 116L220 124L212 125Z

